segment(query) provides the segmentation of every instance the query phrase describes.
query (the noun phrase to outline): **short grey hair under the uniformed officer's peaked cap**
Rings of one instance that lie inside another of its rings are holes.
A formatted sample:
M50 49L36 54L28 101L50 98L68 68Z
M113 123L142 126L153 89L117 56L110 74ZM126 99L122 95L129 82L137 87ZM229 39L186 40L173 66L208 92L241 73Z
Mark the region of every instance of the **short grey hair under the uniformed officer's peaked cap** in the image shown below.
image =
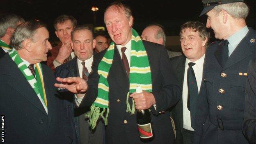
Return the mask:
M223 5L217 5L213 9L217 14L219 14L220 11L224 10L236 19L245 19L249 13L249 7L244 2L233 2Z

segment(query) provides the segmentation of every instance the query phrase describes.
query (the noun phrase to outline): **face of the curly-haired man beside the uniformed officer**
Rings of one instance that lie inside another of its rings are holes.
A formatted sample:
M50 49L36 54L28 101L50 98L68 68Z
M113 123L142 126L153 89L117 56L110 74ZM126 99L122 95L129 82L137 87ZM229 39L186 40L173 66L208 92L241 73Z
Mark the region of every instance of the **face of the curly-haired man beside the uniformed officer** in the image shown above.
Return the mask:
M184 55L192 62L200 59L206 51L207 39L203 40L199 32L194 32L191 28L183 30L180 41Z

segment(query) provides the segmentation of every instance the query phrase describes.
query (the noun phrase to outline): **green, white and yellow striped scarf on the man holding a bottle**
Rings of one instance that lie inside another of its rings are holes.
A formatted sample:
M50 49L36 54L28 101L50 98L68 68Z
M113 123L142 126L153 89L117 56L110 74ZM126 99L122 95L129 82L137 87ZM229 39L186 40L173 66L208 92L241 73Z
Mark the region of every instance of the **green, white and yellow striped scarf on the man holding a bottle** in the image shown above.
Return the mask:
M91 111L87 114L90 118L90 126L92 129L96 127L98 118L101 116L107 125L107 117L109 113L109 84L107 82L107 75L113 62L114 43L112 42L107 49L104 57L98 65L98 74L100 75L98 83L98 96L91 105ZM135 103L133 101L132 107L128 102L129 93L135 92L137 86L141 86L143 90L152 91L151 70L149 66L149 59L140 39L138 33L132 29L131 53L130 53L130 91L127 93L126 112L135 113ZM103 110L101 111L100 108ZM105 114L106 111L106 114ZM105 115L105 116L104 116Z

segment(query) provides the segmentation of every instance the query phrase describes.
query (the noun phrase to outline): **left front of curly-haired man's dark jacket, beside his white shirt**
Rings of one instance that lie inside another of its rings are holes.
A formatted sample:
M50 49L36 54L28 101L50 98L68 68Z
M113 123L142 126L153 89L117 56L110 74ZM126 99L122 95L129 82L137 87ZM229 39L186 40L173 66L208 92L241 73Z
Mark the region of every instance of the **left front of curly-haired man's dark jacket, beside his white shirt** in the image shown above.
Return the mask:
M184 80L184 72L185 72L185 62L186 57L184 55L172 57L171 66L175 70L175 76L178 80L178 83L181 87L181 91L183 91L183 80ZM200 91L201 92L201 91ZM174 118L175 129L176 129L176 142L177 144L183 144L183 101L182 101L182 93L181 99L178 101L174 109L171 111L172 117Z

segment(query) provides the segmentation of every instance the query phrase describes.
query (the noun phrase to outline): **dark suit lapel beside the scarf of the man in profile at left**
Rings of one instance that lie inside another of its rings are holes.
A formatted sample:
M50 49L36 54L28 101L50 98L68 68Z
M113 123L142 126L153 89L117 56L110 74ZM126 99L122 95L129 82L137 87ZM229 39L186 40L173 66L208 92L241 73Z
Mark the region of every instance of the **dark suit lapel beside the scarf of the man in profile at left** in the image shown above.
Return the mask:
M17 65L9 59L9 65L6 65L6 71L4 75L10 75L9 81L7 82L13 89L18 91L24 98L27 99L32 105L41 110L45 115L46 111L43 108L41 101L39 100L37 94L34 92L34 89L27 82L23 73L18 69Z

